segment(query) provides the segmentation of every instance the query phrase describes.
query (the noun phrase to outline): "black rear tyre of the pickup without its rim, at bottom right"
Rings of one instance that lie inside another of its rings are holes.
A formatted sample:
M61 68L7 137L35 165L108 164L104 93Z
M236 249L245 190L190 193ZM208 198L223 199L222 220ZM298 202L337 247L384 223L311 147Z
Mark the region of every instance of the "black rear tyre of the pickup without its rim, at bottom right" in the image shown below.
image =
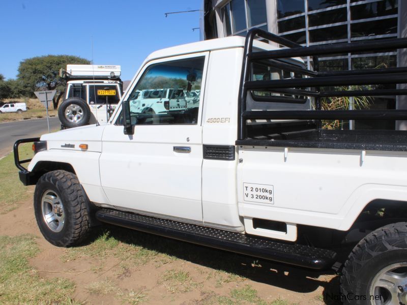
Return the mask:
M356 300L355 296L369 297L372 281L381 270L405 262L407 223L395 223L371 232L352 250L342 269L340 290L343 303L371 304L369 300Z

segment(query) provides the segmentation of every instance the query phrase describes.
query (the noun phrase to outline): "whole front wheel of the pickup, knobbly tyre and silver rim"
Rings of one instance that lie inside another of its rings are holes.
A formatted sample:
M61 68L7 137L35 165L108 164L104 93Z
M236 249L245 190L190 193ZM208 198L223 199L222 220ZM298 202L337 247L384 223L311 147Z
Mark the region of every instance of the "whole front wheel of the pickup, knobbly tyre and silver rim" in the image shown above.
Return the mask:
M34 192L34 212L44 238L58 247L83 241L90 231L88 204L76 175L64 170L42 175Z

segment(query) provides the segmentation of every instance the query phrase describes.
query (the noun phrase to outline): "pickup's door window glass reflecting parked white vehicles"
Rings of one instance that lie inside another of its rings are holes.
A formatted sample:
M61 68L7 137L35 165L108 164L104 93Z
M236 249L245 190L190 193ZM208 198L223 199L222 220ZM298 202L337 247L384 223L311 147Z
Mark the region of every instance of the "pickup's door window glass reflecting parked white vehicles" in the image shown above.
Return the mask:
M197 124L205 56L150 66L130 94L136 125Z

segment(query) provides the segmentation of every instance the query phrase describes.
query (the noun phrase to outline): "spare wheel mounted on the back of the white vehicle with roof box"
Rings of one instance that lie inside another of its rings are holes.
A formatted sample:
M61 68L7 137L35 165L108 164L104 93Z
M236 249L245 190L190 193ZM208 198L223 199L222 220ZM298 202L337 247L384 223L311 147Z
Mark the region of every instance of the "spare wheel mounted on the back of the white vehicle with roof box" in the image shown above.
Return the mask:
M68 98L58 109L58 117L65 127L84 126L89 124L91 110L81 98Z

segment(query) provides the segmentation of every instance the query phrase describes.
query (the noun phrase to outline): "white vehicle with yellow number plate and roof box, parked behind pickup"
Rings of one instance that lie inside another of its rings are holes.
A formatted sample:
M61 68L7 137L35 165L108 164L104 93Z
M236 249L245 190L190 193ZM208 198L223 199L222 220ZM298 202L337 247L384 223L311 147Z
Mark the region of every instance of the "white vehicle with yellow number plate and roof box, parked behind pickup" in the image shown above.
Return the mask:
M123 94L120 66L67 65L67 81L58 116L62 128L107 123Z

